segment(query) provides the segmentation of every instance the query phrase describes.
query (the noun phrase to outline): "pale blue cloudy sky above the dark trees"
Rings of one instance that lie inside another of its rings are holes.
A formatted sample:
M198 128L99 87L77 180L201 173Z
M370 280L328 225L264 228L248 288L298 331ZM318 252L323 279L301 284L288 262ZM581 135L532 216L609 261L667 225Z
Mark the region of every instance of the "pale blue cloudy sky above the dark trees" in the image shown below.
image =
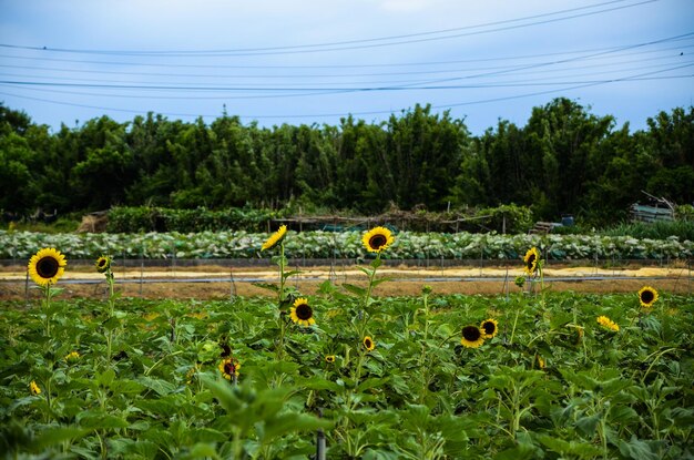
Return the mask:
M0 102L59 130L154 112L473 135L569 98L646 129L694 104L694 0L0 0Z

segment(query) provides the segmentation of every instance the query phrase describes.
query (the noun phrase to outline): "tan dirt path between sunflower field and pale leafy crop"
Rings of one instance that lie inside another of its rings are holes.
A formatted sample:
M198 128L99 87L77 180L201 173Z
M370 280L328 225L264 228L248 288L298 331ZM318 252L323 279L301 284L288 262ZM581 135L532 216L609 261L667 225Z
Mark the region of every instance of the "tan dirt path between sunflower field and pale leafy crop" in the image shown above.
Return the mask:
M503 294L514 292L514 278L520 268L506 267L380 267L378 277L391 280L375 289L376 296L414 296L430 285L435 294ZM545 285L552 290L586 293L629 293L650 285L657 290L694 294L694 277L687 268L662 267L549 267L544 272ZM185 269L145 268L116 269L116 289L124 296L143 298L223 299L231 296L272 295L256 283L277 283L277 270L272 268L192 267ZM330 280L364 285L366 276L358 267L307 267L289 278L288 284L302 294L315 294L319 285ZM27 289L27 274L22 267L0 270L0 300L38 298L35 289ZM59 282L65 290L61 297L102 297L105 282L102 274L91 267L74 267Z

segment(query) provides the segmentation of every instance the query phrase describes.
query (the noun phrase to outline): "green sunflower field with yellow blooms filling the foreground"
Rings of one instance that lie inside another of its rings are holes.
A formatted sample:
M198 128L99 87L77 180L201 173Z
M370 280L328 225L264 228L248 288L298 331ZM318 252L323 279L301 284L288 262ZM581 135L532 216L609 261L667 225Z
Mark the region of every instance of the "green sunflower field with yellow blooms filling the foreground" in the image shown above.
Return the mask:
M85 459L686 459L694 301L544 288L523 252L509 296L379 297L387 228L360 237L364 282L278 282L231 300L61 299L70 260L28 258L41 300L0 304L0 451ZM261 246L262 245L262 246Z

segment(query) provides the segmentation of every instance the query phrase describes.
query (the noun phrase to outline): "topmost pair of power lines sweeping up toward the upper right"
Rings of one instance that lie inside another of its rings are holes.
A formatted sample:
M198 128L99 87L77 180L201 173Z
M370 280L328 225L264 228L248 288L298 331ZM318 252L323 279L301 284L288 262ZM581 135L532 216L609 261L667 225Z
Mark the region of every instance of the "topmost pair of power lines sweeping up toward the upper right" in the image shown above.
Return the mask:
M576 19L576 18L582 18L582 17L588 17L588 16L594 16L594 14L601 14L605 12L623 10L627 8L634 8L634 7L643 6L646 3L653 3L660 0L642 0L636 3L612 7L612 8L598 10L598 11L583 12L583 13L562 17L562 18L540 20L540 21L534 21L534 22L529 22L529 23L523 23L523 24L507 25L507 27L500 27L496 29L488 29L488 30L481 30L481 31L455 33L455 34L449 34L449 35L443 35L443 37L428 37L428 38L421 38L421 39L414 38L414 37L431 35L431 34L449 33L451 31L466 31L466 30L479 29L479 28L484 28L484 27L490 27L490 25L521 22L521 21L527 21L530 19L545 18L549 16L557 16L557 14L563 14L567 12L580 11L580 10L585 10L585 9L591 9L591 8L600 8L600 7L614 4L614 3L622 3L624 1L631 1L631 0L612 0L608 2L595 3L592 6L580 7L580 8L569 9L569 10L561 10L561 11L555 11L555 12L550 12L550 13L535 14L531 17L517 18L517 19L490 22L490 23L484 23L484 24L468 25L468 27L456 28L456 29L442 29L438 31L420 32L420 33L414 33L414 34L390 35L390 37L381 37L381 38L372 38L372 39L348 40L348 41L340 41L340 42L313 43L313 44L300 44L300 45L288 45L288 47L203 50L203 51L181 51L181 50L177 50L177 51L126 51L126 50L85 50L85 49L69 49L69 48L25 47L25 45L17 45L17 44L9 44L9 43L0 43L0 48L32 50L32 51L50 51L50 52L60 52L60 53L74 53L74 54L178 57L178 58L221 57L221 55L239 57L239 55L295 54L295 53L315 53L315 52L328 52L328 51L346 51L346 50L356 50L356 49L366 49L366 48L380 48L380 47L392 47L392 45L410 44L410 43L421 43L421 42L430 42L430 41L438 41L438 40L450 40L450 39L462 38L462 37L472 37L472 35L486 34L486 33L513 30L513 29L519 29L519 28L528 28L532 25L553 23L553 22L565 21L570 19ZM408 39L400 40L401 38L408 38ZM395 40L395 41L387 42L387 43L374 43L375 41L387 41L387 40ZM357 44L357 43L364 43L364 44Z

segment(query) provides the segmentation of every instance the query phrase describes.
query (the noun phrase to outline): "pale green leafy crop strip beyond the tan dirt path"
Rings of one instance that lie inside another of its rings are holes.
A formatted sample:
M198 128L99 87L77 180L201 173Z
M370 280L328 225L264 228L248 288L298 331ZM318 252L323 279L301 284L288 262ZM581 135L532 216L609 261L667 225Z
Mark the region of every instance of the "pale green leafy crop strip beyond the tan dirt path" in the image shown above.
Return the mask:
M57 247L70 259L102 254L118 258L255 258L267 238L264 233L201 232L143 234L42 234L0 231L0 258L27 259L40 247ZM694 242L636 239L599 235L499 235L400 232L382 258L391 259L518 259L529 247L555 260L687 259ZM300 232L285 243L287 257L348 258L366 256L361 233Z

